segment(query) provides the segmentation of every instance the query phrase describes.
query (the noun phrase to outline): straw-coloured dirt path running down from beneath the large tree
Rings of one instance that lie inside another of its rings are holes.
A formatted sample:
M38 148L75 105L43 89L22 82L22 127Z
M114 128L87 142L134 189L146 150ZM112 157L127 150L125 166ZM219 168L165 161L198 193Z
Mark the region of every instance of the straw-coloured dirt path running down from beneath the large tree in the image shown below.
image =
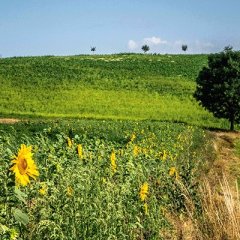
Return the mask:
M235 154L239 132L212 132L216 158L202 184L201 239L240 239L240 157Z

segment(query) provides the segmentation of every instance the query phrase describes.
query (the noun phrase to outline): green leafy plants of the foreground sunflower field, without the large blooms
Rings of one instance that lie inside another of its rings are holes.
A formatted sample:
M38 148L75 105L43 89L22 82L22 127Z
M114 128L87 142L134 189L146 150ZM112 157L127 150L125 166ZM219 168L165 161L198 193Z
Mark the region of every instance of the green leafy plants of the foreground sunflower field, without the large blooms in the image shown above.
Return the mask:
M194 204L200 204L197 179L207 140L201 129L170 123L89 122L35 126L32 135L32 125L22 126L23 132L18 126L11 132L1 130L1 237L11 233L36 240L164 239L164 234L174 234L167 216L186 213L183 186ZM9 168L21 143L32 145L40 176L16 189ZM116 172L111 168L112 151ZM171 175L173 167L176 173ZM149 192L143 202L139 191L144 182Z

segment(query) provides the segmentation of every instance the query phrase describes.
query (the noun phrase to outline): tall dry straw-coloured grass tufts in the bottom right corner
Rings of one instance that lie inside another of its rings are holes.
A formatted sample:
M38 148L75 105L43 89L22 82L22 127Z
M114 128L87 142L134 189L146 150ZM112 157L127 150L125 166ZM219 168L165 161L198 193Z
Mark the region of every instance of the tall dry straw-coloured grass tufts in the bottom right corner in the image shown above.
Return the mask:
M185 187L187 214L171 216L178 240L237 240L240 239L239 189L230 187L224 176L220 189L213 189L206 179L201 184L202 211L197 213L194 203ZM170 238L169 238L170 239Z

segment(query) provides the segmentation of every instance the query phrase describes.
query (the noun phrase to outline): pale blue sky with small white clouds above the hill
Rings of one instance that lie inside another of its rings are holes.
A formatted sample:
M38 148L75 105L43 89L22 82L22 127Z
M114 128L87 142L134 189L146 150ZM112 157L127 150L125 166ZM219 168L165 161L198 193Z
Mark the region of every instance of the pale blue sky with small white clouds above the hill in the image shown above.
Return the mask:
M0 0L0 55L240 50L239 0Z

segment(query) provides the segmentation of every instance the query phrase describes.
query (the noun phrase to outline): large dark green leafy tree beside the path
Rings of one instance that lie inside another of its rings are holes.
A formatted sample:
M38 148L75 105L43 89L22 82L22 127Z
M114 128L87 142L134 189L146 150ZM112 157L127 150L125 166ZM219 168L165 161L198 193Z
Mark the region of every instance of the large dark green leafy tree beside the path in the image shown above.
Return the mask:
M240 51L225 47L220 53L210 54L208 66L197 77L194 97L217 118L240 122Z

